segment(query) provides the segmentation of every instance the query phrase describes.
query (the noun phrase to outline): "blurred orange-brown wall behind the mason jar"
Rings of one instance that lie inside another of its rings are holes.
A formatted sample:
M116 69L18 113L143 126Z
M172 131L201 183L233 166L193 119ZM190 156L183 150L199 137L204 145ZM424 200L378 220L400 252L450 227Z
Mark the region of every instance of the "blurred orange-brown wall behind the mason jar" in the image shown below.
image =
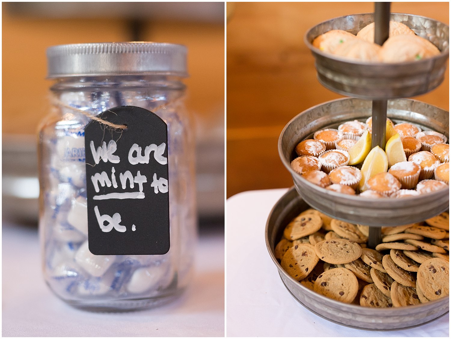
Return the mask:
M106 4L108 5L108 4ZM35 134L46 116L48 88L46 48L54 45L130 41L129 23L100 14L86 18L18 16L2 3L2 131ZM199 133L224 131L224 23L179 19L148 19L143 40L188 47L186 105ZM14 123L20 121L20 125Z

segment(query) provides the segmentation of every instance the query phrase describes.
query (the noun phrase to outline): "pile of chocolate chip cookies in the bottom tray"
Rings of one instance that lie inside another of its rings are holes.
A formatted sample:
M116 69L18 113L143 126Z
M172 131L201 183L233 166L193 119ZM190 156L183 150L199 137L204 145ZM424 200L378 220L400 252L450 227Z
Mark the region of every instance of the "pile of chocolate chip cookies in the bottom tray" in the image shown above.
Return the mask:
M449 294L449 214L382 228L366 248L368 226L308 209L285 228L275 248L282 268L326 297L368 307L415 305Z

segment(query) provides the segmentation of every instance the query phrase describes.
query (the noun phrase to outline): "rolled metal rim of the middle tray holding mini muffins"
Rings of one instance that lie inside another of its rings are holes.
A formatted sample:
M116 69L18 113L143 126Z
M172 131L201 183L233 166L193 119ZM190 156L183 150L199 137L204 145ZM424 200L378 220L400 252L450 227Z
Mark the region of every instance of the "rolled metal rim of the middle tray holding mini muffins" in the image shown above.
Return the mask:
M310 187L313 190L319 190L320 192L324 192L327 194L330 194L332 197L336 197L336 198L346 198L346 200L350 200L350 201L355 201L355 202L367 202L367 203L372 203L375 200L377 200L378 202L382 203L381 204L381 208L387 206L387 207L391 207L393 204L394 199L393 198L389 198L389 197L383 197L383 198L368 198L368 197L360 197L359 195L347 195L347 194L343 194L343 193L338 193L338 192L334 192L334 191L330 191L330 190L326 190L325 188L322 188L318 185L314 185L312 184L310 181L304 179L299 173L295 172L295 170L293 170L290 166L290 163L285 159L285 155L284 155L284 150L282 149L282 137L285 134L285 130L288 128L288 126L295 121L300 115L304 114L306 111L310 111L313 110L315 108L321 107L323 105L327 105L331 102L338 102L338 101L342 101L342 100L349 100L349 98L340 98L340 99L335 99L335 100L330 100L327 102L322 102L316 106L310 107L304 111L302 111L301 113L299 113L298 115L296 115L294 118L292 118L283 128L280 136L279 136L279 140L278 140L278 151L279 151L279 157L282 160L282 163L284 164L284 166L288 169L288 171L290 172L290 174L292 176L295 176L296 178L302 180L304 182L305 185L307 185L308 187ZM413 100L413 99L395 99L395 100L411 100L411 101L415 101L415 102L420 102L418 100ZM426 103L426 102L421 102L421 103ZM429 104L428 104L429 105ZM433 105L430 105L433 106ZM434 106L436 107L436 106ZM437 107L438 108L438 107ZM448 190L448 195L449 195L449 186L446 188L446 190ZM409 202L409 201L415 201L418 199L423 199L423 198L430 198L431 201L434 201L433 199L435 199L438 196L442 196L442 193L445 191L445 189L442 190L437 190L437 191L433 191L433 192L429 192L429 193L423 193L421 195L418 196L408 196L408 197L404 197L403 201L405 202Z

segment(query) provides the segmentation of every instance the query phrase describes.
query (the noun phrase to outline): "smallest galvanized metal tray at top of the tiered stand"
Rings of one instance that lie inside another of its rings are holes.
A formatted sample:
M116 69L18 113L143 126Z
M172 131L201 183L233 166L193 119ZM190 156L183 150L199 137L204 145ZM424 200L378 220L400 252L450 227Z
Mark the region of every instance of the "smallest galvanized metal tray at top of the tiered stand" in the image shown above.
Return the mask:
M346 15L316 25L304 37L315 57L319 82L336 93L370 100L413 97L441 84L449 57L449 26L411 14L392 13L390 19L406 24L437 46L441 53L429 59L387 64L345 59L313 47L315 37L332 29L357 34L374 21L373 13Z

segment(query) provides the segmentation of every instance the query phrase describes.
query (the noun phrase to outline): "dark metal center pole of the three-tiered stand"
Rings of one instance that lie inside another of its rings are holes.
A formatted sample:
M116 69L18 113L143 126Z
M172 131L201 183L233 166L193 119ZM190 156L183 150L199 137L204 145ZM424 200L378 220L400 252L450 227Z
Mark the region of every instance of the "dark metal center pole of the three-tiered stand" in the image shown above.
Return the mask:
M388 39L390 29L390 2L374 3L374 42L381 45ZM373 100L371 148L385 150L387 126L387 100ZM381 242L381 228L370 227L368 247L375 248Z

